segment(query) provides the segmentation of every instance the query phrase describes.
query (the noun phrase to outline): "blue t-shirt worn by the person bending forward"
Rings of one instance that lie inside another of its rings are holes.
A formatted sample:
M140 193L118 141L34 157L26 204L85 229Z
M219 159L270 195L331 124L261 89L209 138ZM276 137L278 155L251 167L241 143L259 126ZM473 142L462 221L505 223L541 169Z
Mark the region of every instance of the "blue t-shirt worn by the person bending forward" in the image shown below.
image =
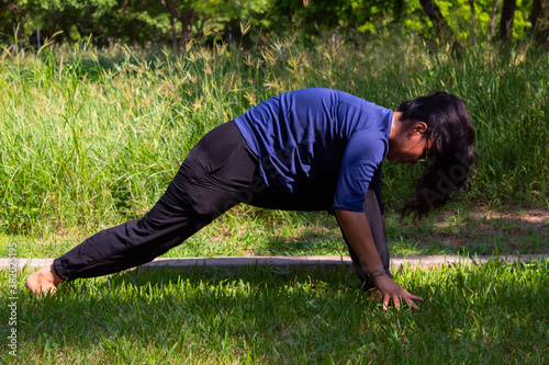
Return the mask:
M271 98L235 123L270 190L293 193L336 174L332 208L363 212L370 184L383 209L379 178L392 117L390 110L343 91L303 89Z

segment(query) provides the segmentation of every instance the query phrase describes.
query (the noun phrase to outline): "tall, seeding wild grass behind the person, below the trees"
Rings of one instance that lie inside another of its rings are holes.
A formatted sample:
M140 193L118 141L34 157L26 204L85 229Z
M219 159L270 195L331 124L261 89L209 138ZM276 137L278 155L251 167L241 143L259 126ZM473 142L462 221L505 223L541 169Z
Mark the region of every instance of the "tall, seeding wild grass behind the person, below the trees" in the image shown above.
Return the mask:
M419 41L357 49L291 39L251 52L79 44L0 59L0 229L91 232L145 213L209 129L283 91L326 87L386 107L435 90L462 98L478 133L463 203L549 206L547 54L472 49L458 60ZM402 205L419 168L385 163Z

